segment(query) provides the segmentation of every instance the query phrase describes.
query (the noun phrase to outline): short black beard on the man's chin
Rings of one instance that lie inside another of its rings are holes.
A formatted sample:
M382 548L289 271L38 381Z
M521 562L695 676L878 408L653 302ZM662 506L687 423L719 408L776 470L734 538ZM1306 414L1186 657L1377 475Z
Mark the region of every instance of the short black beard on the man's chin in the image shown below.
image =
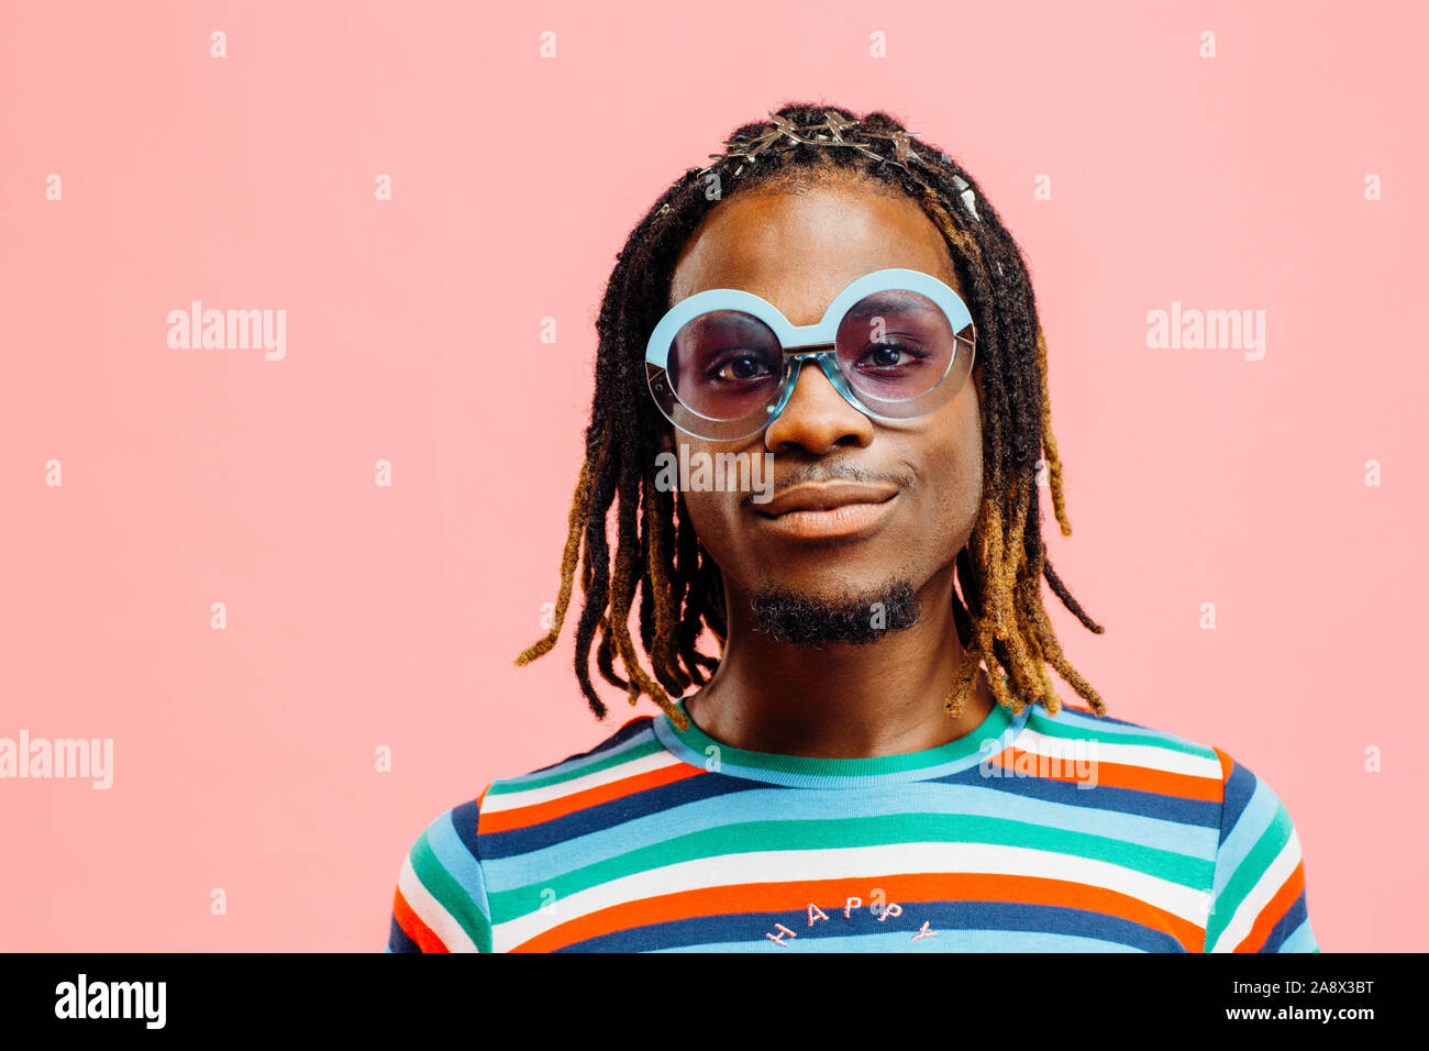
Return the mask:
M837 598L797 593L769 586L750 599L755 626L775 642L823 646L829 642L862 645L886 632L917 623L917 595L907 581Z

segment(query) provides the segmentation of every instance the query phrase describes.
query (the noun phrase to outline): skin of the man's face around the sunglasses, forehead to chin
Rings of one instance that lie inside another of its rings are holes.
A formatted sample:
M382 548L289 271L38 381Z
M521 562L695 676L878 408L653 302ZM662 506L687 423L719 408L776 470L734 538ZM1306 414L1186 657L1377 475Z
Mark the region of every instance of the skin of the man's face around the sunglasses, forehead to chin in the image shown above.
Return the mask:
M706 289L742 289L792 325L813 325L849 282L885 267L929 273L963 295L942 235L912 200L845 180L800 193L755 190L717 204L684 245L670 305ZM779 596L776 606L805 603L806 621L809 609L860 621L872 602L896 605L950 566L982 495L979 375L975 369L933 413L883 423L806 363L763 433L712 442L670 428L674 449L686 445L692 458L775 456L773 500L684 492L700 543L729 589L732 626L743 619L740 609L759 611L770 596ZM887 626L907 625L895 616ZM806 641L830 639L816 629Z

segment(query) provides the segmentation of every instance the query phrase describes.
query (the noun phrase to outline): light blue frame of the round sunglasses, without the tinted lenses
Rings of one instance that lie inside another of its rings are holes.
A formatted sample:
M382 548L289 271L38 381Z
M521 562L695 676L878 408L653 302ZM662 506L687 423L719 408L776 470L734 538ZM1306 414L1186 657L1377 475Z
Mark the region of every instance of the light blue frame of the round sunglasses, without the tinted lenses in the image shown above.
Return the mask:
M899 400L872 398L855 388L839 365L835 339L845 315L876 292L916 292L930 299L947 317L953 332L953 353L949 356L947 370L922 395ZM775 393L759 409L739 419L702 416L680 400L667 376L670 352L680 329L692 319L713 310L740 310L757 317L773 330L785 352L785 372ZM790 325L779 307L750 292L739 289L697 292L670 307L654 326L644 352L644 367L650 396L670 423L696 438L729 442L757 435L785 410L806 360L817 362L833 389L865 416L893 422L925 416L956 396L972 373L976 346L977 333L972 313L953 289L922 270L889 267L866 273L846 285L816 325Z

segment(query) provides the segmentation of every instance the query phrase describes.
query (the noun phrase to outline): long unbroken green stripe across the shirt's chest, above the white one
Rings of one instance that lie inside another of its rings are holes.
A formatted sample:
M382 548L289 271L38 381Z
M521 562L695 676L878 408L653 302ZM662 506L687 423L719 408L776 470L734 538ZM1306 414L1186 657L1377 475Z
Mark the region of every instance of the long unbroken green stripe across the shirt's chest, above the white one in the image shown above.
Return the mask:
M492 915L516 917L540 908L544 904L542 894L547 889L554 891L557 899L566 898L600 884L684 861L717 858L726 854L819 851L905 842L1029 847L1110 862L1193 889L1206 887L1213 877L1210 859L1089 832L1049 829L1026 821L982 815L957 815L950 819L947 814L902 814L896 822L889 821L887 815L876 815L832 821L749 821L700 829L627 851L556 878L543 879L540 885L530 884L510 891L492 892L489 902Z

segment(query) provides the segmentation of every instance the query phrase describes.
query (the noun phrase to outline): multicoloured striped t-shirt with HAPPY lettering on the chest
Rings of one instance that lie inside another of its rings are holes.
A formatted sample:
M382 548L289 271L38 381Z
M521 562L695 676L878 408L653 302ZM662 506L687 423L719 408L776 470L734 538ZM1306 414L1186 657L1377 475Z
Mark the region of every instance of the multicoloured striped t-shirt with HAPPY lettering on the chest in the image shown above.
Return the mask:
M493 781L389 952L1319 952L1300 842L1218 748L1063 705L939 748L749 752L663 712Z

